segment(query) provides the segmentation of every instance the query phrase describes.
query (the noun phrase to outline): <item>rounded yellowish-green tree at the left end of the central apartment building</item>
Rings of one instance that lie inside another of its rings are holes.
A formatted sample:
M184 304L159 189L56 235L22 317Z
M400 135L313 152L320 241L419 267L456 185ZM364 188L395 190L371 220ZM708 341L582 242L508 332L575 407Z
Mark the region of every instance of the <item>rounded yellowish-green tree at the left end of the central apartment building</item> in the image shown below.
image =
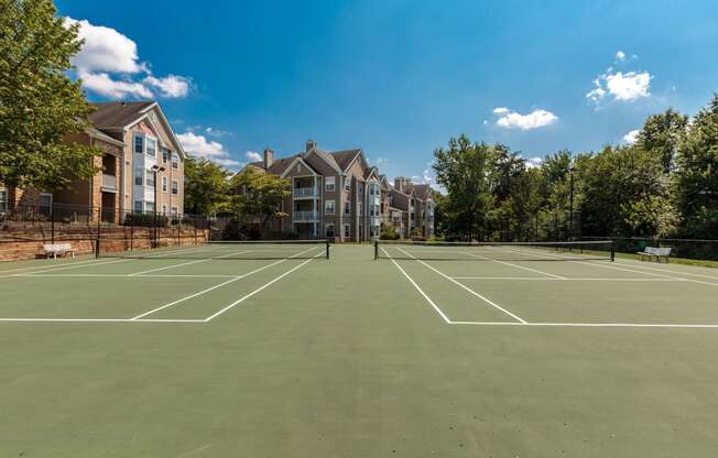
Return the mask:
M238 219L258 221L263 232L272 218L286 216L282 200L291 195L291 182L254 167L246 167L230 181L230 211Z

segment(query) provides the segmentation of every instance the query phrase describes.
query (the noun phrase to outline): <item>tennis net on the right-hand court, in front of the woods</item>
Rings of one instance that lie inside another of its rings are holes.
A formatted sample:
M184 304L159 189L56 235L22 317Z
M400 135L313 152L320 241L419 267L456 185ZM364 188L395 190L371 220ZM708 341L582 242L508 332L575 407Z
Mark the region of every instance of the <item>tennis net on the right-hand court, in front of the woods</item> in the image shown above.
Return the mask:
M613 261L611 240L578 242L439 242L378 240L374 259L425 261Z

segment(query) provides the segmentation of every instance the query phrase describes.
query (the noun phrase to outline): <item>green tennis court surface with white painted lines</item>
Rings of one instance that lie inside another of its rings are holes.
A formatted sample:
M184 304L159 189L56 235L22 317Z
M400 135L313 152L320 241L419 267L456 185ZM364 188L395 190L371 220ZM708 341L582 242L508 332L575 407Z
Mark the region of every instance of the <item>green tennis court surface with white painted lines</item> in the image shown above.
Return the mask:
M718 452L716 271L382 248L1 264L0 456Z

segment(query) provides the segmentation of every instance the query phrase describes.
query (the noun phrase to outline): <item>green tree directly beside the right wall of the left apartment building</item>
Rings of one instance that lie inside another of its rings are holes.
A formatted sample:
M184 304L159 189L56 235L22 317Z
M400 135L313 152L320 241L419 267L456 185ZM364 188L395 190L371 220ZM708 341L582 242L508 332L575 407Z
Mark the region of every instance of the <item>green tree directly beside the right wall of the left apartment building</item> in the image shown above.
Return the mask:
M185 161L185 211L210 216L229 207L230 173L206 159Z

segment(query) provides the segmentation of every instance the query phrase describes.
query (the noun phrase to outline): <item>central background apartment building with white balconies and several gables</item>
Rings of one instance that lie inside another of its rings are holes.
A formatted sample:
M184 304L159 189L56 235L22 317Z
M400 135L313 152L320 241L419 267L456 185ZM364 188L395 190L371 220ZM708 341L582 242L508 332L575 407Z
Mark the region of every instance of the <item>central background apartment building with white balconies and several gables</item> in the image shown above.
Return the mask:
M433 235L433 214L431 220L424 221L424 209L433 208L426 205L426 196L431 201L428 189L422 194L424 197L413 197L416 210L411 216L409 201L405 209L402 205L392 207L393 187L377 167L367 163L361 149L324 151L309 140L303 152L289 157L275 159L272 150L264 150L263 160L247 167L291 181L291 195L282 203L289 217L272 221L273 232L367 241L379 238L385 225L401 226L398 231L403 237L412 233L404 227L416 229L418 225L421 233Z

